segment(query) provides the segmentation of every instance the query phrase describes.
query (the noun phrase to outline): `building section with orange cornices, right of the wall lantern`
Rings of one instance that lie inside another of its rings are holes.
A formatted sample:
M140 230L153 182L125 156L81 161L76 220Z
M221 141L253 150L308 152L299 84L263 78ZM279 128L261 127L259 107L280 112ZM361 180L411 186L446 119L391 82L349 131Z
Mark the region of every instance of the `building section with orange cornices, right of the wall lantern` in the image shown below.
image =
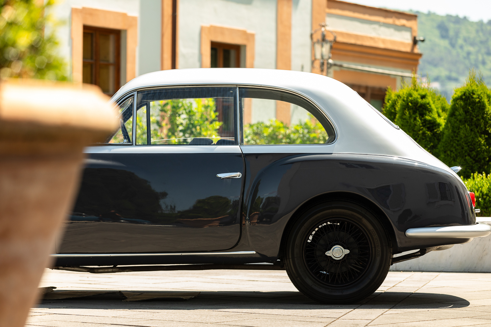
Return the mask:
M325 23L336 34L330 76L352 87L366 101L382 109L385 89L398 89L403 78L417 70L417 15L328 0ZM329 38L332 36L329 35ZM348 68L343 65L351 66ZM367 70L383 70L384 73ZM388 74L394 73L394 74Z

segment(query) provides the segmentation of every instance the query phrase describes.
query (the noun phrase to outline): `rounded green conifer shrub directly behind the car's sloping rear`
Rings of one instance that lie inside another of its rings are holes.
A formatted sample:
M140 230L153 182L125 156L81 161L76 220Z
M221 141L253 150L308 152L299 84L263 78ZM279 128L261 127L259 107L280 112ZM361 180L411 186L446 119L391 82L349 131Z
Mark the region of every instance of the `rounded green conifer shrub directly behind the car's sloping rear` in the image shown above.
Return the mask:
M413 76L411 84L404 84L399 91L387 90L383 114L424 149L435 153L447 110L445 98Z

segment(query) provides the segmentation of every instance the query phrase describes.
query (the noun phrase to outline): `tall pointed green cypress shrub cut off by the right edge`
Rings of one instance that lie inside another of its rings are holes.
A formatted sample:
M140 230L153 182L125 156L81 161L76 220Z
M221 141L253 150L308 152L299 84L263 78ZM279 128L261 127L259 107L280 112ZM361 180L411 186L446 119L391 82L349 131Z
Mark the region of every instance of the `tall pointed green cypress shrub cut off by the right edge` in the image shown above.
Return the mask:
M491 92L481 76L470 71L463 86L452 96L439 158L448 166L461 166L465 178L490 172Z

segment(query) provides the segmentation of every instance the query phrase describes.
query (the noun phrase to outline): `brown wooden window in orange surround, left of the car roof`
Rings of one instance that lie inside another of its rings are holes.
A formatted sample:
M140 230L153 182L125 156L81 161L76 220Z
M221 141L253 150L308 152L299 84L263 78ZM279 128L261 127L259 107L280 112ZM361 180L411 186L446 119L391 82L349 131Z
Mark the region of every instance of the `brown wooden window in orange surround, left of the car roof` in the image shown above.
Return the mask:
M119 89L120 38L120 30L83 26L82 81L109 96Z

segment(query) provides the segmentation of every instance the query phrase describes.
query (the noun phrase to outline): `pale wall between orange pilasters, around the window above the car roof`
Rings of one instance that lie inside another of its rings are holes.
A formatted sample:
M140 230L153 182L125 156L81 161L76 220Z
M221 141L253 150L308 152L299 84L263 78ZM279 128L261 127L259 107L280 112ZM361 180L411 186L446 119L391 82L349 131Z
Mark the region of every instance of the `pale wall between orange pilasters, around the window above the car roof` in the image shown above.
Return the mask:
M178 68L201 67L201 25L255 32L254 68L276 68L276 0L179 0Z

